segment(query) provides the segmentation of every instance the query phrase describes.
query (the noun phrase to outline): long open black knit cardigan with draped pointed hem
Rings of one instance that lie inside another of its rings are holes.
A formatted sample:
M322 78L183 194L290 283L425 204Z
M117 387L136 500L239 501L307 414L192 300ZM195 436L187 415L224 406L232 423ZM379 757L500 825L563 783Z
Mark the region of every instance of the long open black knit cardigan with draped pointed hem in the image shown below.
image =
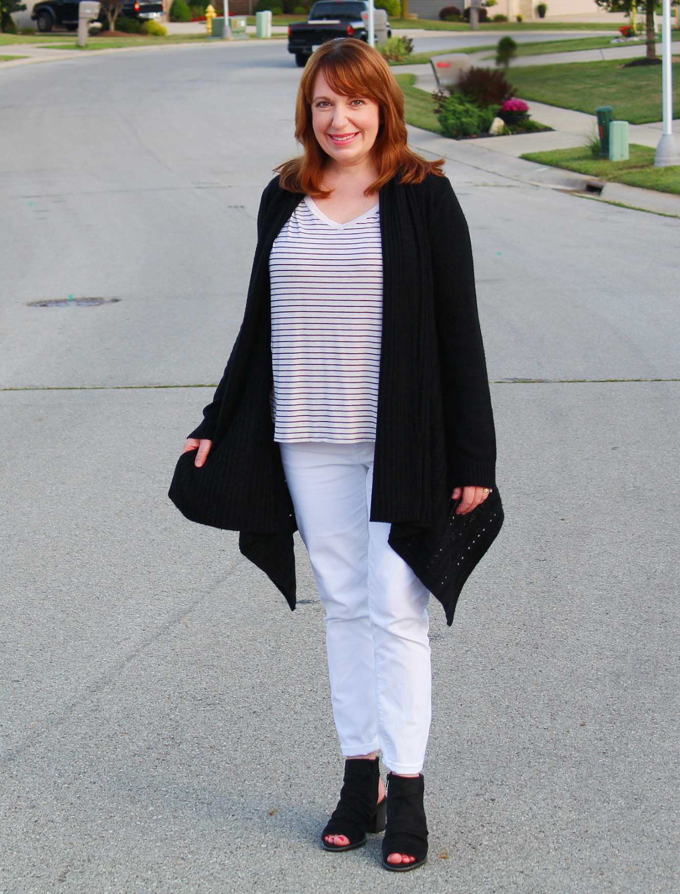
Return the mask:
M183 454L185 493L176 500L174 482L170 494L188 518L240 531L242 553L292 609L296 525L270 409L268 263L301 200L278 178L262 195L241 330L190 435L211 439L213 448L198 469L195 453ZM399 552L399 536L446 516L456 485L495 484L496 441L470 236L451 184L434 174L417 185L396 176L379 201L383 316L370 519L392 524L389 542Z

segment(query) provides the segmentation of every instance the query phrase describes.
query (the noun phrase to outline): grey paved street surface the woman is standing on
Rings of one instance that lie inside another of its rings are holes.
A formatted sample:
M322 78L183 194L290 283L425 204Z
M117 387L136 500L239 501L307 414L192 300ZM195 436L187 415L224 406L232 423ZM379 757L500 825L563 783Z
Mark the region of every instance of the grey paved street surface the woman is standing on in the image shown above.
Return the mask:
M465 164L506 527L431 611L429 863L319 848L310 569L292 613L166 498L299 74L276 45L0 72L0 894L675 894L678 224ZM69 295L119 300L29 306Z

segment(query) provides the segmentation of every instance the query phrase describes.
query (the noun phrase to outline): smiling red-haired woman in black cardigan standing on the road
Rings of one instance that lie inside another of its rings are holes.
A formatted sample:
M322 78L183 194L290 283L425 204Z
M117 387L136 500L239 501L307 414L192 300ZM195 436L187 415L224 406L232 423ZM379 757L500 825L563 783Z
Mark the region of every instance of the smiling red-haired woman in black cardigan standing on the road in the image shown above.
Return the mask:
M470 513L494 485L472 253L442 162L407 148L401 90L366 44L311 56L296 137L304 154L262 197L241 332L184 445L191 506L179 485L171 496L189 518L241 531L292 608L299 527L345 757L321 844L351 850L387 822L383 865L404 872L428 848L429 592L399 552L451 499Z

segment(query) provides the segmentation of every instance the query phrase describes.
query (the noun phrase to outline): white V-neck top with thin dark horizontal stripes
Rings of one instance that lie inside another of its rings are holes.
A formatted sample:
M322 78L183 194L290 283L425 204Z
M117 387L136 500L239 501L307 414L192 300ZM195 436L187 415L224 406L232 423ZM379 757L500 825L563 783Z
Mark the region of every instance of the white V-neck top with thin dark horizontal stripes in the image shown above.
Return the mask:
M374 441L382 330L379 207L336 223L306 196L269 256L276 442Z

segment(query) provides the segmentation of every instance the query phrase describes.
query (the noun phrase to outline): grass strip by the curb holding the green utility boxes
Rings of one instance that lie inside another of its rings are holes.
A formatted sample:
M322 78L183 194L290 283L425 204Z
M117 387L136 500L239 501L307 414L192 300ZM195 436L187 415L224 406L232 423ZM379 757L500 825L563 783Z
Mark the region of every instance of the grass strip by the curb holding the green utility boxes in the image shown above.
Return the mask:
M530 162L550 164L567 171L589 174L599 180L627 183L644 190L675 192L680 195L680 164L655 168L654 149L631 143L631 157L626 162L610 162L591 156L589 148L555 149L552 152L528 152L523 155Z

